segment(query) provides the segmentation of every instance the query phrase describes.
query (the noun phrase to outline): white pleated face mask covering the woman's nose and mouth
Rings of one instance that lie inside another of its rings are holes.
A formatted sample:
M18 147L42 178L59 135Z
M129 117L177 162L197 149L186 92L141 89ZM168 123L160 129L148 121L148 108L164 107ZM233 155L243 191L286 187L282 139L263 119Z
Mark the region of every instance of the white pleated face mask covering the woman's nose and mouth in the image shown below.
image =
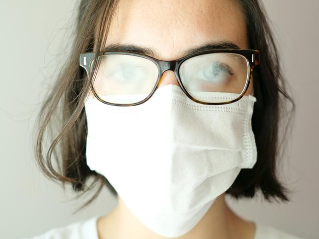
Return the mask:
M232 104L202 105L172 84L138 106L88 98L87 165L107 178L145 226L179 237L200 221L241 168L254 166L255 101L247 95Z

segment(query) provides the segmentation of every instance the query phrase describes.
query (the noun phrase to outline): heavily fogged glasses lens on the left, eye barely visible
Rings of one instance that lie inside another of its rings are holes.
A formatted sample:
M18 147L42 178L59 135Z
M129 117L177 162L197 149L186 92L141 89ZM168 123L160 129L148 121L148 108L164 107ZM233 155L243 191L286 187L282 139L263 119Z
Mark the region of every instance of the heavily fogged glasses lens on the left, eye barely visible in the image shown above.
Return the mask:
M126 54L106 54L101 57L93 81L100 99L113 104L134 104L144 100L158 79L157 65L146 58ZM90 72L92 72L92 60Z

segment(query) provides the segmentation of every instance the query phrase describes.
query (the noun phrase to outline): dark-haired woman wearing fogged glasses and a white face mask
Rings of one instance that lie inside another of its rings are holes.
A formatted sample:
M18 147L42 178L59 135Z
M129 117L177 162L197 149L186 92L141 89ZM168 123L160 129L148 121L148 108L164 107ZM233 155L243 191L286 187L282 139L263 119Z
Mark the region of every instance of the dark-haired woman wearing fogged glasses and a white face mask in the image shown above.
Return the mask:
M289 201L275 173L285 100L293 105L257 0L81 0L37 160L75 191L101 183L83 207L105 185L118 205L40 238L295 239L224 200L261 189ZM62 129L46 154L59 104ZM51 164L57 147L62 172Z

